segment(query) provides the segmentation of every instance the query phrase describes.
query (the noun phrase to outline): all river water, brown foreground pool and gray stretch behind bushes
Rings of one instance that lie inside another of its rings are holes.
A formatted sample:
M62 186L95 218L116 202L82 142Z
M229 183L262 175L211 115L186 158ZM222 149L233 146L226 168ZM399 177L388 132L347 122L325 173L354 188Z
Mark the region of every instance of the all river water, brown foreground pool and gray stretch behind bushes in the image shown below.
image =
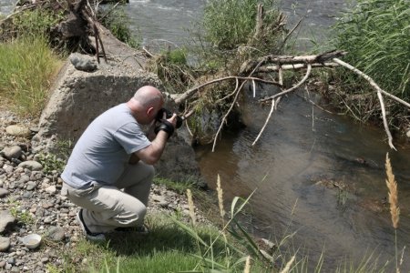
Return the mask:
M0 1L0 13L9 13L13 2ZM164 41L183 45L184 29L200 18L204 3L130 0L126 10L130 27L142 35L144 45ZM281 5L289 25L303 18L295 32L300 48L309 47L311 39L319 43L326 39L328 26L345 6L342 0L283 1ZM409 144L395 143L398 151L391 150L383 129L329 114L309 103L309 99L320 103L320 97L298 91L282 99L261 139L252 146L269 113L256 99L274 90L259 86L256 98L246 92L246 128L238 135L223 134L215 152L210 146L196 150L210 187L215 187L220 174L227 206L232 197L248 197L256 189L246 225L272 240L296 231L292 246L309 255L310 268L323 249L324 272L334 271L344 260L357 264L370 255L379 258L379 264L394 260L395 230L386 209L384 159L389 152L398 183L397 247L402 249L410 239ZM339 190L340 185L348 190ZM409 270L405 254L402 272Z

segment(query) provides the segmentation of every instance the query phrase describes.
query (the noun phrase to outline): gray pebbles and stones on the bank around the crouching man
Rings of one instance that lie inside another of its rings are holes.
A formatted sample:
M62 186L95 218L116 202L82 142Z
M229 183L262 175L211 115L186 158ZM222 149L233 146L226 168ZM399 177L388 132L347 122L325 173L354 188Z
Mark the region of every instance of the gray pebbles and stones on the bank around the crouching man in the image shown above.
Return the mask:
M49 272L64 268L64 253L77 253L84 237L75 219L78 207L60 196L60 173L52 166L36 161L41 151L33 153L30 138L39 128L37 121L20 118L0 108L0 270L11 272ZM154 184L149 196L149 215L179 212L189 221L190 212L184 195ZM210 222L196 210L200 223ZM39 248L29 249L22 238L30 233L43 238ZM113 233L112 238L127 238ZM79 260L85 267L87 258ZM83 266L81 266L83 265Z

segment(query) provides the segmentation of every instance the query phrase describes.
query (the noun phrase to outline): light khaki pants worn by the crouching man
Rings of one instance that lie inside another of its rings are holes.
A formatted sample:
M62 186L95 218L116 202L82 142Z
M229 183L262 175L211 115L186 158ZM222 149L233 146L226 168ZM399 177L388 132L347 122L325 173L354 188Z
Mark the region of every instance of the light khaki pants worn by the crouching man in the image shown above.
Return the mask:
M62 195L83 207L83 218L93 233L105 233L116 227L140 226L147 213L154 167L138 162L128 165L113 186L96 184L77 189L63 184Z

